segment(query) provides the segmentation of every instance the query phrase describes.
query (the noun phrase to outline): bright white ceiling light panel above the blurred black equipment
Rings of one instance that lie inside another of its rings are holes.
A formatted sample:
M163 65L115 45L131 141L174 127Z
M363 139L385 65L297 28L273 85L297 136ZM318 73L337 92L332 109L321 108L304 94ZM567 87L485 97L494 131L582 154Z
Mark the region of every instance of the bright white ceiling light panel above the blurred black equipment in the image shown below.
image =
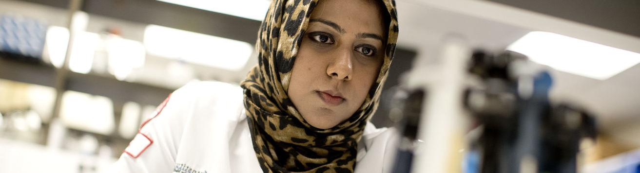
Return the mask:
M526 34L507 49L556 70L598 80L609 79L640 63L636 52L541 31Z

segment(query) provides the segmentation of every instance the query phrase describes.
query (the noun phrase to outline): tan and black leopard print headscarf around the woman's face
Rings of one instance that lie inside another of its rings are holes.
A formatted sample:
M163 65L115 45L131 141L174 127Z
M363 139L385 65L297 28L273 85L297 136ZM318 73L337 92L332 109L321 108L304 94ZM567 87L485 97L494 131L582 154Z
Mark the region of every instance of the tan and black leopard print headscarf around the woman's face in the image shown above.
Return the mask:
M329 129L311 126L287 95L291 70L312 10L319 0L273 0L256 49L259 64L241 83L253 149L264 172L353 172L358 140L378 107L396 49L396 3L381 0L389 18L385 59L367 98L346 121Z

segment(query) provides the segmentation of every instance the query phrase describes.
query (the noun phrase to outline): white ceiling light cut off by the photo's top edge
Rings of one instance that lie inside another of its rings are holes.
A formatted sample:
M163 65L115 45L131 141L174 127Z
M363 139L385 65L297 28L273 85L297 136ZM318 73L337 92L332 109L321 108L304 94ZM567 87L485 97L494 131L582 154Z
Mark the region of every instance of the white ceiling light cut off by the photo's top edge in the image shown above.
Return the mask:
M269 9L268 0L158 0L201 10L262 21Z

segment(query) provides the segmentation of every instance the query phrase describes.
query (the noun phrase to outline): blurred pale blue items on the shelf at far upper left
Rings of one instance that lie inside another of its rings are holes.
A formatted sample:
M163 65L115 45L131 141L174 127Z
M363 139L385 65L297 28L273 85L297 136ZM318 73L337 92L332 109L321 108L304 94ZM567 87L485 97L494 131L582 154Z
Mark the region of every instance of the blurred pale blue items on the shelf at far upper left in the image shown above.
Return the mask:
M0 52L15 58L40 61L47 25L20 16L0 16Z

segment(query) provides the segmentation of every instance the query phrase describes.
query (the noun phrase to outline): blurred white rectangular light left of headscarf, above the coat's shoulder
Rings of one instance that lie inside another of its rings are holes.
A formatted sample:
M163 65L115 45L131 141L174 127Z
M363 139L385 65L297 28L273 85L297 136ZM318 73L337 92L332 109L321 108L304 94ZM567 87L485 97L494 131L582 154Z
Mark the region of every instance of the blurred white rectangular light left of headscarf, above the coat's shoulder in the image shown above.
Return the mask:
M145 29L143 43L148 54L231 71L241 70L253 53L244 41L155 25Z

